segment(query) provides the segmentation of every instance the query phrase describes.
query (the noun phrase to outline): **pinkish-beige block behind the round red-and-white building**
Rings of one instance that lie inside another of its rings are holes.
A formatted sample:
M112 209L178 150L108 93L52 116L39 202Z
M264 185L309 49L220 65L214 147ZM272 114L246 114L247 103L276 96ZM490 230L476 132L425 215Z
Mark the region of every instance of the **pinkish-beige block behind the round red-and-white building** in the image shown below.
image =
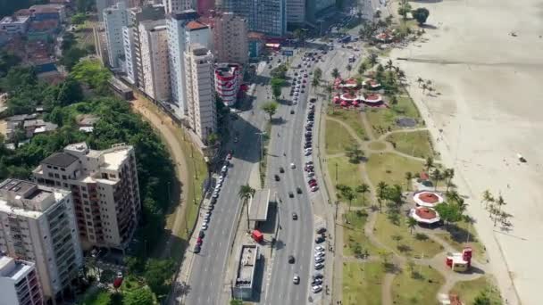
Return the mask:
M248 24L233 12L223 12L214 18L213 46L217 62L249 61Z

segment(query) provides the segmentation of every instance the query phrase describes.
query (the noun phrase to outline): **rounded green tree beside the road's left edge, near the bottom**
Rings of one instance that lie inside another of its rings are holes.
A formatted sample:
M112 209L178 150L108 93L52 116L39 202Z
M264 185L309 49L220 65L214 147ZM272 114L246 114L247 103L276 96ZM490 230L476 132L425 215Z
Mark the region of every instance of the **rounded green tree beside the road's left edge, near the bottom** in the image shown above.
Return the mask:
M168 293L168 282L175 273L173 260L147 260L144 278L151 291L156 295Z

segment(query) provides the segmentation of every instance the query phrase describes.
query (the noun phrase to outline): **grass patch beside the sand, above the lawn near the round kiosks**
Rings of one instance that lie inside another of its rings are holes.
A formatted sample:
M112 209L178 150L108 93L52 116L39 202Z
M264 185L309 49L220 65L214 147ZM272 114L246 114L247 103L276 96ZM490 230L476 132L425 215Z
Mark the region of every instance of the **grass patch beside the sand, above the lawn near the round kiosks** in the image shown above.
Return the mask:
M426 158L434 155L428 130L397 132L388 135L387 141L395 145L398 152L404 152L414 157Z

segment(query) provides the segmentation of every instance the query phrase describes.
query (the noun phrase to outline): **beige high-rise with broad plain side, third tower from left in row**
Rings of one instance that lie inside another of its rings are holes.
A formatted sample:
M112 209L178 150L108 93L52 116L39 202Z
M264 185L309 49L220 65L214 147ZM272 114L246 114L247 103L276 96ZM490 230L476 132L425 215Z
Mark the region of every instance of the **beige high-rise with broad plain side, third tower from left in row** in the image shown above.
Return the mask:
M168 27L166 21L139 23L144 92L166 102L171 97Z

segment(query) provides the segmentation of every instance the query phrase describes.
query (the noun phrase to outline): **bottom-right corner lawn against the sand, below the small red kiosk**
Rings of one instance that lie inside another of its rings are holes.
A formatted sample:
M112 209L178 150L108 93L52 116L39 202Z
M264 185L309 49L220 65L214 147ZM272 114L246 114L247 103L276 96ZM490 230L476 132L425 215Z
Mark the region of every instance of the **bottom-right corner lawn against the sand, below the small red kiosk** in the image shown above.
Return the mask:
M489 276L480 276L472 281L458 282L451 289L451 293L457 294L464 304L473 304L475 298L483 291L489 296L491 305L502 304L499 290L492 284Z

